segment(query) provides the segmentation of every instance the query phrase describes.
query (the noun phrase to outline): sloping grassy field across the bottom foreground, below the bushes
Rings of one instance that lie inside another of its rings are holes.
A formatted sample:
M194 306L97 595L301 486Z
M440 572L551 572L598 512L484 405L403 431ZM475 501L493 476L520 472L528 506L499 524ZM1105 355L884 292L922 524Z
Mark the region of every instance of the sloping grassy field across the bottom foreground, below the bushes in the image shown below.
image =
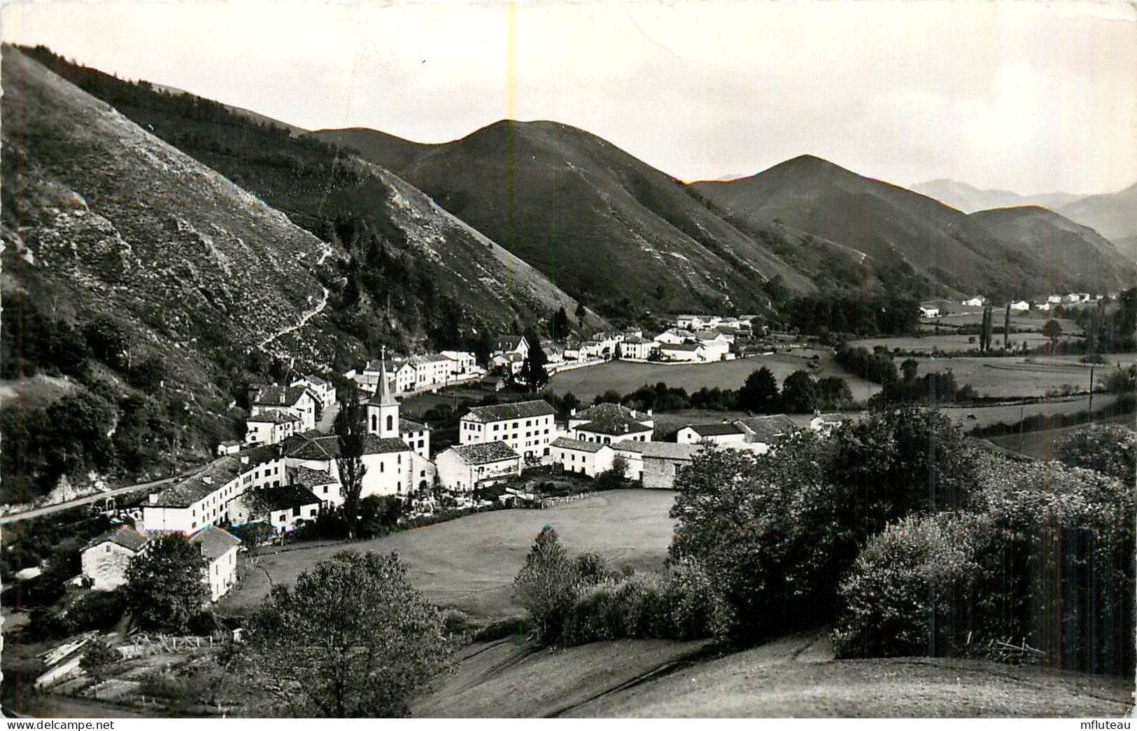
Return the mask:
M827 633L721 657L698 642L620 640L526 652L475 644L416 717L1121 716L1131 679L985 660L833 659Z

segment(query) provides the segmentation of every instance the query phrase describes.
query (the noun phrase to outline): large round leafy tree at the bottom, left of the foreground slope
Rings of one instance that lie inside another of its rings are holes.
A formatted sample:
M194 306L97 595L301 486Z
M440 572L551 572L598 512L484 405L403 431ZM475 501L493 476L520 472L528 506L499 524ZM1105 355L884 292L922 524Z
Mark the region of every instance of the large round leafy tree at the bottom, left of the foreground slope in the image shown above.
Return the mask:
M398 553L341 551L273 586L251 622L249 666L297 716L406 716L446 666L442 629Z

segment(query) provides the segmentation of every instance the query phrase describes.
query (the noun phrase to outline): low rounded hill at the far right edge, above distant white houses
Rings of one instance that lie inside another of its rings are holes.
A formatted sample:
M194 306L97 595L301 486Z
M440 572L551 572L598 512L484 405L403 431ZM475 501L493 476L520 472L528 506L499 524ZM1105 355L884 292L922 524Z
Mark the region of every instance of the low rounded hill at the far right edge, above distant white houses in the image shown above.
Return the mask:
M1041 260L1069 290L1102 294L1137 284L1137 263L1094 229L1047 208L993 208L972 213L971 219L999 240Z

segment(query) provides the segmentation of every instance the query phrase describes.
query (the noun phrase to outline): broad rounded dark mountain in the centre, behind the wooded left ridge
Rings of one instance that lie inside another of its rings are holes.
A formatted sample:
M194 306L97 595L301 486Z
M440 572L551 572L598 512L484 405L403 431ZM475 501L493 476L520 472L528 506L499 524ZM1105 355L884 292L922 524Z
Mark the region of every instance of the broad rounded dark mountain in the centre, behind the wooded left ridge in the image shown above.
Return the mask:
M415 145L324 130L613 315L634 310L766 307L764 284L812 291L854 252L770 222L741 230L658 170L582 130L503 121L459 140ZM828 276L828 274L827 274Z

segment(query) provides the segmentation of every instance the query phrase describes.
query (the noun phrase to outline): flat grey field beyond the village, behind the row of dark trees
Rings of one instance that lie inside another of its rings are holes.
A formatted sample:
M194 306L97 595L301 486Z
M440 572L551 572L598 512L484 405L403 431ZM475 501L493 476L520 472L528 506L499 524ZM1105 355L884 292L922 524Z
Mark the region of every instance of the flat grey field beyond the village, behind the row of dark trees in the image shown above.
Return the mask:
M813 371L819 376L841 376L848 381L853 397L861 401L880 391L877 384L846 372L832 360L830 351L802 348L794 353L742 358L717 363L691 366L663 366L658 363L628 363L612 361L603 366L564 371L553 377L551 387L558 394L572 392L581 401L588 402L606 391L626 394L644 384L654 386L663 381L669 386L681 386L687 393L699 388L738 388L755 370L765 366L781 383L796 370L806 368L814 354L821 356L821 368Z

